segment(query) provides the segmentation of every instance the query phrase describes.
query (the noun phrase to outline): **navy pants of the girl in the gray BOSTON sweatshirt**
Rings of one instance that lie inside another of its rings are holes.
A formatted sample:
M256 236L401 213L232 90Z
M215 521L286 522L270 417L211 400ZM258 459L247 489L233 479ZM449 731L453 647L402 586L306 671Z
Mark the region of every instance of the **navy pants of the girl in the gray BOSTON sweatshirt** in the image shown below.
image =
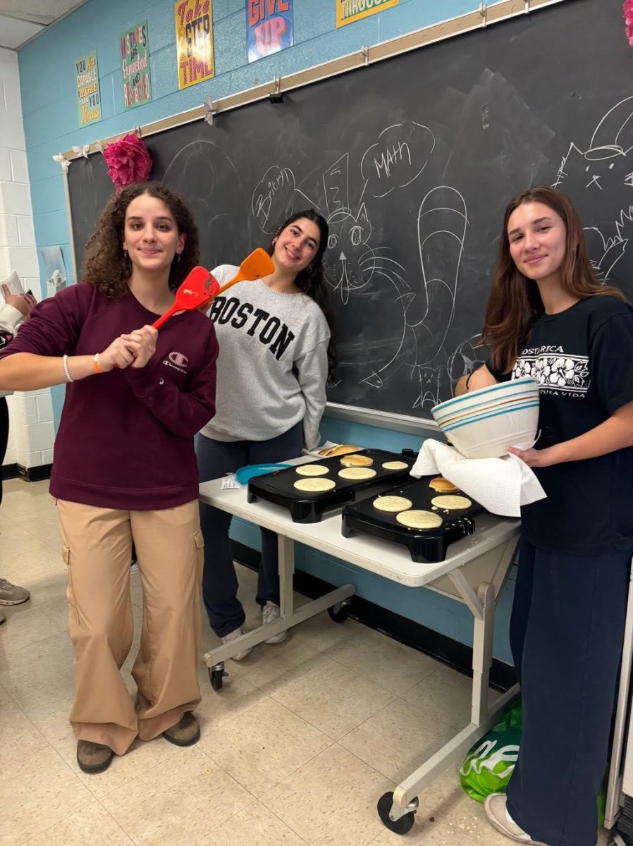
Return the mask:
M300 456L302 448L302 422L269 441L224 442L199 435L196 453L200 481L219 479L246 464L271 464L294 459ZM245 620L244 608L237 598L238 580L228 538L231 515L200 503L200 525L205 539L202 599L211 628L218 637L224 637L239 629ZM277 535L268 529L261 530L256 599L261 606L267 601L279 604Z

